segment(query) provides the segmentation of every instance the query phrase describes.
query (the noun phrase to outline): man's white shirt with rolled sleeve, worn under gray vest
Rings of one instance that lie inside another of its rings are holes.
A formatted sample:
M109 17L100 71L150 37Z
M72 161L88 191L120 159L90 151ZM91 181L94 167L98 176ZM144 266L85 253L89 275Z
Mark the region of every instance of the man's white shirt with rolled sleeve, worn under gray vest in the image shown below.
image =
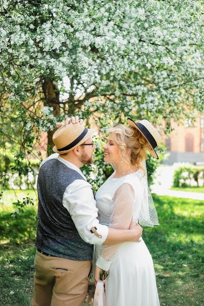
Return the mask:
M78 171L85 180L75 180L67 186L63 196L63 206L71 215L81 238L90 244L101 245L108 236L108 226L99 224L98 209L91 184L87 182L86 177L77 166L60 157L58 153L43 160L40 166L52 159L58 159L67 167ZM94 226L97 228L97 233L102 236L101 238L90 232Z

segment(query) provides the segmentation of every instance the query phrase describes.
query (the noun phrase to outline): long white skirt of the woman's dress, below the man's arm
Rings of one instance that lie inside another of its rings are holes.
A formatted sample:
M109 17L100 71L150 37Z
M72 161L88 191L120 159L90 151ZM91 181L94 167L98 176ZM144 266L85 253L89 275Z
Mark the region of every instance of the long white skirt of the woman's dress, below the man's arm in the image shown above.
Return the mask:
M160 305L154 264L143 240L122 243L111 261L105 285L107 306Z

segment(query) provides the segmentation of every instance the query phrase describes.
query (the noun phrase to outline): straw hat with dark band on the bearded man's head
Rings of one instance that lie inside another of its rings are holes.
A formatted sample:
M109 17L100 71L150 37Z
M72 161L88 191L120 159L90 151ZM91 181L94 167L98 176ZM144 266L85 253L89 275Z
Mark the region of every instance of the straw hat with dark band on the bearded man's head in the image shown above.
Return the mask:
M94 129L86 129L81 123L69 123L62 125L53 135L54 152L64 154L81 145L96 131Z

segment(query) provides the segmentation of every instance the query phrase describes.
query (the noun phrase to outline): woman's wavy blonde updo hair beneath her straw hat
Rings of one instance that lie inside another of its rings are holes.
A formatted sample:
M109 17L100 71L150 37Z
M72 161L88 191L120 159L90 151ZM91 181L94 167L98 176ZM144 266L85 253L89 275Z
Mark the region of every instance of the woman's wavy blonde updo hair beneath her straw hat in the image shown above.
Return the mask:
M140 133L135 127L117 124L110 127L108 130L112 134L115 142L119 146L119 154L121 160L124 160L127 149L131 150L130 163L132 166L144 171L142 167L142 161L147 159L146 150L150 149L151 146L146 138Z

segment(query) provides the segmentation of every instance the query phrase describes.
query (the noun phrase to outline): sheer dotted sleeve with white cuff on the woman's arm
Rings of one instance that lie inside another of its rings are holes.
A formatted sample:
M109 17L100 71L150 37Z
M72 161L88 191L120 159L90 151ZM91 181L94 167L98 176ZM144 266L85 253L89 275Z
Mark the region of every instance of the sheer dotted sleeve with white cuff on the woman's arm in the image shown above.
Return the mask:
M129 229L133 216L134 201L135 193L131 184L123 183L120 185L112 198L113 213L110 219L110 227L117 228L118 230ZM111 265L111 258L119 245L101 245L96 266L108 271Z

